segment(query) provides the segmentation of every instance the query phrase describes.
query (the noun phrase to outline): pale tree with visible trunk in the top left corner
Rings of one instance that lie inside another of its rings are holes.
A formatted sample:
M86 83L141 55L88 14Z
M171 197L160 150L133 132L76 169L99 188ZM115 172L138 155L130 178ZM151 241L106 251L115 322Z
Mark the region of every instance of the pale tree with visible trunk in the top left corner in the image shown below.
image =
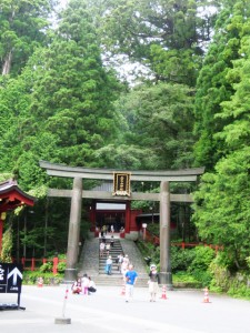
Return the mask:
M17 75L39 44L46 42L54 0L0 3L0 68L2 74Z

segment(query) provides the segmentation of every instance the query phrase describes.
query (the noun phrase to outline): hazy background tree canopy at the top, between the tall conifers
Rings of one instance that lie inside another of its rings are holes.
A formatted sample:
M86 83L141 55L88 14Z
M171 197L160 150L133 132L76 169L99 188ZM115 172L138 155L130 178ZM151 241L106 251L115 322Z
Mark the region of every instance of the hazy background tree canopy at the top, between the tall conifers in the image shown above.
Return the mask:
M210 39L207 26L212 24L213 16L209 11L200 16L209 1L98 2L97 6L96 1L88 0L87 6L111 54L126 54L130 61L143 64L156 81L194 85L202 43ZM120 57L117 58L119 61Z

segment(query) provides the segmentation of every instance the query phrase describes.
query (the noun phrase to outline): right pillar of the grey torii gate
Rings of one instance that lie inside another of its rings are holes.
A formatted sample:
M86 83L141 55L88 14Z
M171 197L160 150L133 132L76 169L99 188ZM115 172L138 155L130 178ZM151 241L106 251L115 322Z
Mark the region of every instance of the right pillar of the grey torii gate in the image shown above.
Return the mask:
M169 182L161 182L160 190L160 283L172 289L170 261L170 190Z

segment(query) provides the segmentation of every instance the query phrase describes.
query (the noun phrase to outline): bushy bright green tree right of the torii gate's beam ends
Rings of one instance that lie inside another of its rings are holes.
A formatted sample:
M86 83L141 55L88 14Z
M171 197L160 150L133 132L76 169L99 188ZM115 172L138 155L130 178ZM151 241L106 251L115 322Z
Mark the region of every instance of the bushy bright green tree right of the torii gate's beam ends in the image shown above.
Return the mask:
M221 160L217 173L204 174L200 191L194 194L193 219L200 236L223 245L238 269L246 268L250 253L249 165L250 150L246 147Z

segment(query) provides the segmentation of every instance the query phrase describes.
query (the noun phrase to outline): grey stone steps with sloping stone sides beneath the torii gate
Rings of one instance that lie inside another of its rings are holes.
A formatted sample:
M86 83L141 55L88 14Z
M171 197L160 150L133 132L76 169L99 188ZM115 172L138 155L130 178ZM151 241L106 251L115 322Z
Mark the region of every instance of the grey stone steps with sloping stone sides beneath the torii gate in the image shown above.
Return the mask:
M107 236L107 241L110 242L109 236ZM124 253L129 255L130 262L134 265L134 270L138 272L139 279L137 285L148 286L148 273L146 270L146 263L133 241L114 238L113 248L110 248L110 255L113 260L112 275L107 275L104 272L107 255L100 258L99 246L100 239L91 238L89 240L86 240L78 265L78 274L80 276L87 273L89 276L91 276L97 285L122 286L123 279L118 270L116 258L118 256L118 254Z

